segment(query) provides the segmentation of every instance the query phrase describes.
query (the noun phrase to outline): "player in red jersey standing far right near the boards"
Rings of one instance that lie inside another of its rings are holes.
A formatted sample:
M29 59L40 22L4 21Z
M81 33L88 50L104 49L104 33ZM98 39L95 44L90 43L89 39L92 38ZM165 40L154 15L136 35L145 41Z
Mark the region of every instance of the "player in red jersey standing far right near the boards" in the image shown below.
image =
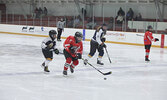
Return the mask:
M159 41L158 38L154 38L152 36L152 31L153 31L153 27L151 25L149 25L147 27L147 31L144 34L144 46L145 46L145 52L146 52L145 61L150 61L148 58L149 58L149 53L150 53L152 41L154 41L154 42Z

